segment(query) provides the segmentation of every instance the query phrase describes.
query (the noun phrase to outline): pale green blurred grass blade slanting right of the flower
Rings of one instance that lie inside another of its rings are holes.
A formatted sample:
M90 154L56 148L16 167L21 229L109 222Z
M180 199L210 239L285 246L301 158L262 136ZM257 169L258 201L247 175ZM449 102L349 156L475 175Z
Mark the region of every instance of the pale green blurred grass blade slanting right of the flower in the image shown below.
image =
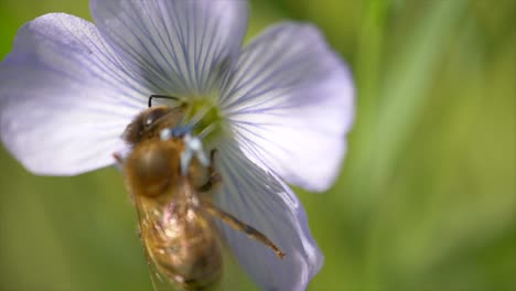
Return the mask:
M465 0L424 2L427 15L415 26L405 50L400 51L394 67L387 74L377 123L377 157L374 181L383 186L390 175L393 163L420 116L427 88L436 74L439 58L447 47L461 14Z

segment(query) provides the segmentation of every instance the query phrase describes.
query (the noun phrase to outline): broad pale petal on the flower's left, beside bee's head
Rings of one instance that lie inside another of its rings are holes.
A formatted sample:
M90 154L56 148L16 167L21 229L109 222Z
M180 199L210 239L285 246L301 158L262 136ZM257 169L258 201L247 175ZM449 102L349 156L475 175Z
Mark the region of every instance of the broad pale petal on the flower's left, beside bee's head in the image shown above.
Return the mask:
M120 134L149 91L79 18L46 14L20 29L0 64L0 134L37 174L72 175L114 162Z

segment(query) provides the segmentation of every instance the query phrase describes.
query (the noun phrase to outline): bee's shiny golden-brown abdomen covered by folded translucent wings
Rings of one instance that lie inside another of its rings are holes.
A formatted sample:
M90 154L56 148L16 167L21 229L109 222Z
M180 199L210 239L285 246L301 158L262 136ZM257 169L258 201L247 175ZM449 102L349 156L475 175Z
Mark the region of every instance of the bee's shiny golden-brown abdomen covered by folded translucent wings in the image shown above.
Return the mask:
M214 290L222 274L216 226L196 202L189 180L172 192L135 200L153 288Z

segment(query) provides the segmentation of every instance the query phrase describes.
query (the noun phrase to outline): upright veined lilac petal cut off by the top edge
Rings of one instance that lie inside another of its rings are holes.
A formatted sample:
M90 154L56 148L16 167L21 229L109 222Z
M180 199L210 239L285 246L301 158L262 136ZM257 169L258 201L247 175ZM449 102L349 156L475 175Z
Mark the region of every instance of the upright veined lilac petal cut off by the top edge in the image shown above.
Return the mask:
M93 0L90 9L106 40L160 94L211 93L247 29L247 1Z

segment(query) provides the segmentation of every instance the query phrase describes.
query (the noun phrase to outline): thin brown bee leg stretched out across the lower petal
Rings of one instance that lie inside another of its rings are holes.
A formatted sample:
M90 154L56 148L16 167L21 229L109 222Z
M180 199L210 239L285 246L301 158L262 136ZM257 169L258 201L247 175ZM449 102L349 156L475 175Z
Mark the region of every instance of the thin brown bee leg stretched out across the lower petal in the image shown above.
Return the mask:
M270 241L270 239L266 235L260 233L258 229L238 220L235 216L217 208L209 202L204 201L203 206L206 209L206 212L212 216L219 218L221 220L233 227L235 230L246 233L248 237L258 240L261 244L269 247L270 249L272 249L280 259L283 259L283 257L286 256L284 252L282 252L272 241Z

